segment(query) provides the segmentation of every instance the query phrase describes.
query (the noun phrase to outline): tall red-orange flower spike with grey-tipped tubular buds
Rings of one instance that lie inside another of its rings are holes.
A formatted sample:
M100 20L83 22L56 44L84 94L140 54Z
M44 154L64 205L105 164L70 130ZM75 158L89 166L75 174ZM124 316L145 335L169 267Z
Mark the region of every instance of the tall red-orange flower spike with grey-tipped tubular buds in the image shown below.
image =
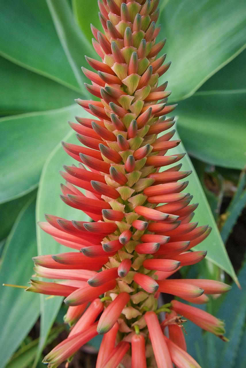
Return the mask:
M167 279L206 256L189 250L211 229L191 222L197 204L183 193L188 181L180 181L191 171L180 171L184 154L167 155L180 143L172 139L175 130L157 138L174 125L174 117L165 114L176 107L166 105L167 82L158 86L170 67L163 65L165 54L157 57L165 44L165 39L156 42L158 3L98 1L104 33L92 26L92 42L101 61L86 57L95 71L82 70L92 81L86 89L99 101L76 100L95 118L69 122L83 146L62 143L78 163L61 172L66 180L61 200L92 222L46 215L42 229L74 252L35 257L36 276L57 281L32 280L27 289L64 296L69 306L64 320L71 332L44 358L48 367L70 360L98 333L104 337L97 368L116 368L122 360L133 368L171 368L172 362L199 367L186 353L178 314L216 335L224 333L221 321L198 308L172 301L157 309L160 292L200 304L208 300L204 292L229 289L213 280ZM160 172L162 166L168 168ZM167 313L161 324L160 311Z

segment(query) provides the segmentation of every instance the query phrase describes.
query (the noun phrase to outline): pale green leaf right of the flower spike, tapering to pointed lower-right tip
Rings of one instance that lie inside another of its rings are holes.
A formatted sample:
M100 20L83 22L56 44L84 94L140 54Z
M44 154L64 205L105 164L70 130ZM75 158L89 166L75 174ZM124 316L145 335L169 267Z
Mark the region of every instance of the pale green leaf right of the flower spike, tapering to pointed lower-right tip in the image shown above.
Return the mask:
M174 135L174 139L179 139L177 132ZM172 149L172 152L172 154L185 152L182 142L175 149ZM210 235L201 244L196 245L196 250L207 250L206 259L222 268L235 282L237 282L235 271L233 270L227 251L225 250L225 245L221 239L214 216L203 192L202 185L187 154L182 159L182 170L193 170L193 173L188 177L189 185L187 187L187 191L193 195L192 203L199 202L193 220L199 221L200 225L208 224L212 227Z

